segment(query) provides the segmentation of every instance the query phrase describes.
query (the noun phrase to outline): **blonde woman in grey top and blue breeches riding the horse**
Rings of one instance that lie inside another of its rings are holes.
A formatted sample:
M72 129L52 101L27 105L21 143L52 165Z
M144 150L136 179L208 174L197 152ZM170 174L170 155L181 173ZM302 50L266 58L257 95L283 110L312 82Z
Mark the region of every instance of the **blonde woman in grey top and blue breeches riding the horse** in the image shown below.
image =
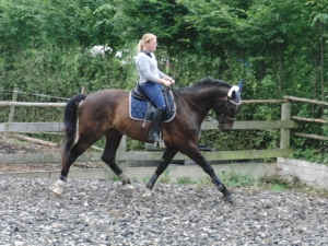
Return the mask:
M166 110L165 99L162 93L162 84L171 86L175 83L174 79L159 70L157 61L153 51L157 47L157 37L153 34L144 34L138 45L136 58L137 70L139 72L139 85L156 110L152 118L152 127L148 139L154 142L162 142L160 127L163 115Z

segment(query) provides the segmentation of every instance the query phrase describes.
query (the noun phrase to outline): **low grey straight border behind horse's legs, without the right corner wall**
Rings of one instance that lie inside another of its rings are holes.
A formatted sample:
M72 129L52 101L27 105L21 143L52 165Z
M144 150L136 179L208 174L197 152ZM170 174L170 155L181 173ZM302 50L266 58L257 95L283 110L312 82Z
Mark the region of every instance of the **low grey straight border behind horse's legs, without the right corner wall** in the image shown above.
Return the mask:
M276 163L238 163L238 164L213 164L213 168L218 174L237 173L239 175L247 175L253 178L260 176L271 176L276 174ZM156 166L126 166L120 164L124 172L132 179L142 181L143 178L150 177ZM50 178L58 179L60 171L34 171L34 172L12 172L0 173L0 177L21 177L21 178ZM165 173L168 175L169 181L176 181L181 177L189 177L192 179L202 179L208 175L198 165L178 165L171 164ZM69 178L72 179L105 179L115 180L115 174L109 168L72 168L69 174Z

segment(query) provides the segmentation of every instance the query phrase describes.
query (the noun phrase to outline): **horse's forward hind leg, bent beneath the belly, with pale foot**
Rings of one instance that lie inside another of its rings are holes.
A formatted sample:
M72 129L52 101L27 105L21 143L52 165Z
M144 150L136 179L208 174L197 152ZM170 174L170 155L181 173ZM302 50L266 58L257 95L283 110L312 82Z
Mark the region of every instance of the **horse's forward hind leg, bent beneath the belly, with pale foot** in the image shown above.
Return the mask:
M134 194L136 189L131 185L130 179L128 178L127 175L125 175L125 173L121 171L121 168L117 165L115 161L116 151L119 147L119 142L122 138L122 134L112 129L107 131L105 136L106 136L106 145L102 155L103 162L105 162L110 167L110 169L119 177L125 189L130 194Z

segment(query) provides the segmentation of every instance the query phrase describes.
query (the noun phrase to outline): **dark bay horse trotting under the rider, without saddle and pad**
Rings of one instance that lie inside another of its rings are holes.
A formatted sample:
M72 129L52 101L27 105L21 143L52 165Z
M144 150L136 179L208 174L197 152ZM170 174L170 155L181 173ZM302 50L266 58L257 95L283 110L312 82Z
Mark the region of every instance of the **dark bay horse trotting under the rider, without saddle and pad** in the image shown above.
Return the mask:
M224 81L206 78L196 84L174 90L177 114L173 120L163 124L163 139L166 149L153 176L147 184L145 195L166 169L175 154L183 154L195 161L212 179L226 201L232 202L232 194L219 179L211 164L197 148L200 126L213 108L216 113L219 128L232 129L237 106L241 104L242 84L231 85ZM77 121L79 118L79 139L74 144ZM62 152L61 175L55 184L54 195L60 196L67 181L68 173L74 161L103 136L106 145L102 160L120 178L124 187L133 190L130 179L116 164L116 151L122 134L143 142L148 140L151 122L142 127L142 120L129 117L129 92L122 90L102 90L89 95L73 96L65 108L66 142ZM186 167L187 168L187 167Z

